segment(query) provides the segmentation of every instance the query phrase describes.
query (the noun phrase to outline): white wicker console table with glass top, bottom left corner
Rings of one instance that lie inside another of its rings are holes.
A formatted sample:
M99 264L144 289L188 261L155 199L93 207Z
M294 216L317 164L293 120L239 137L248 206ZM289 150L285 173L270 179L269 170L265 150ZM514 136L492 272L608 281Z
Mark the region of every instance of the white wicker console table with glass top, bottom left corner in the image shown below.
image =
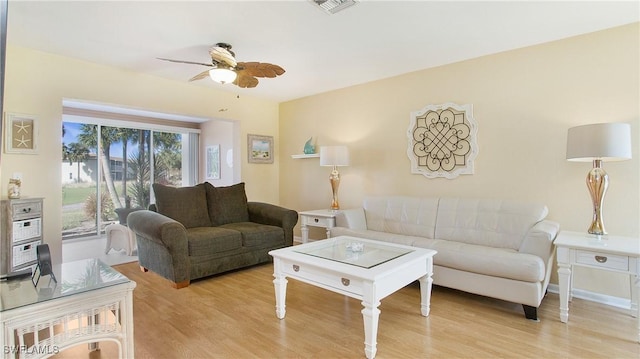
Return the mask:
M3 358L44 358L83 343L118 342L119 357L133 358L136 283L99 259L53 266L42 276L0 282Z

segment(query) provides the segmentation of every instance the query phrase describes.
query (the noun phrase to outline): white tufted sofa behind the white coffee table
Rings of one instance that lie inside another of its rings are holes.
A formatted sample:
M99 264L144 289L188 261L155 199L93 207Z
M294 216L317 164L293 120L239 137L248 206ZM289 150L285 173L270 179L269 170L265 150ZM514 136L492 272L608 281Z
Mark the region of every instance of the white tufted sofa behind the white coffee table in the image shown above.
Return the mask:
M522 304L537 320L558 223L545 205L460 198L367 197L336 216L331 236L434 249L434 284Z

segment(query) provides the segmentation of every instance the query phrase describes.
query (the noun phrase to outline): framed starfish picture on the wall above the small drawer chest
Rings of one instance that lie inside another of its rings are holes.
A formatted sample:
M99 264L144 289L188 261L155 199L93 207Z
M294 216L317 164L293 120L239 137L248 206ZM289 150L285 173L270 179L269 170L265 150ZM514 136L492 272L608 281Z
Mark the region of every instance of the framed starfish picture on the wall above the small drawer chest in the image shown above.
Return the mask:
M33 115L5 113L5 152L35 154L38 150L37 125Z

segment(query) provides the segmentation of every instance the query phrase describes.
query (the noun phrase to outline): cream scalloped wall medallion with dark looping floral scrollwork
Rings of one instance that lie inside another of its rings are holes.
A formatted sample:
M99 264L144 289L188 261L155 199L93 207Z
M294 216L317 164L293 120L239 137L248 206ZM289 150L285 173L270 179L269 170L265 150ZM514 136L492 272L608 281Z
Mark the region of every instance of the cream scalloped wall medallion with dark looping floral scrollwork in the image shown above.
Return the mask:
M477 136L472 105L445 103L412 112L407 131L411 173L448 179L473 174Z

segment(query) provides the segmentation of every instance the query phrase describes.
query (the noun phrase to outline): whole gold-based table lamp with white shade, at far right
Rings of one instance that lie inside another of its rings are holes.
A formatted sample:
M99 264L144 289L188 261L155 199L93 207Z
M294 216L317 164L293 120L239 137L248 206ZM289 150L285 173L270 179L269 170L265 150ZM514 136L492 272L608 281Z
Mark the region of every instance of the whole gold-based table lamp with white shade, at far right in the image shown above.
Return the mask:
M587 174L587 188L593 202L589 233L607 234L602 221L602 206L609 187L609 175L602 168L602 162L628 159L631 159L631 126L628 123L598 123L569 129L567 160L593 162L593 168Z

